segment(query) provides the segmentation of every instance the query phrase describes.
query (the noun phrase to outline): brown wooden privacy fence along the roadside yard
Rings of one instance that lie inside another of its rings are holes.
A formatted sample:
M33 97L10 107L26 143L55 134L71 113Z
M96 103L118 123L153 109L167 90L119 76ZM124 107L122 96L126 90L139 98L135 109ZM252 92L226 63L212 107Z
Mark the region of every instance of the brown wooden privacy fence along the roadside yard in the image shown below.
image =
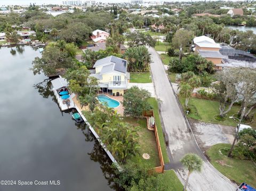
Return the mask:
M149 118L154 117L154 112L152 110L143 111L143 116L149 117ZM149 125L149 123L147 122L147 126L148 125ZM163 154L162 154L162 150L161 150L161 145L160 145L160 142L159 142L157 127L156 127L156 121L154 123L154 134L155 134L155 137L156 137L157 151L158 151L159 161L160 161L160 164L161 164L159 167L155 167L155 171L157 173L163 173L164 172L164 159L163 159Z

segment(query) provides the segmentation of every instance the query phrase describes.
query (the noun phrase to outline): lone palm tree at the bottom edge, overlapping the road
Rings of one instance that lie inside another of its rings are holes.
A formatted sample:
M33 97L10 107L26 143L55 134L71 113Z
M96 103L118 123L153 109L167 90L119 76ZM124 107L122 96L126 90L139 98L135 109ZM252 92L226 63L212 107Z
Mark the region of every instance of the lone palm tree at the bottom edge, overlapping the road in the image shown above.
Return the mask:
M193 171L196 172L201 172L202 166L203 166L203 160L196 154L194 153L188 153L186 154L180 161L184 168L188 170L188 176L185 182L185 185L183 187L183 191L186 190L187 185L188 185L188 179L189 176Z

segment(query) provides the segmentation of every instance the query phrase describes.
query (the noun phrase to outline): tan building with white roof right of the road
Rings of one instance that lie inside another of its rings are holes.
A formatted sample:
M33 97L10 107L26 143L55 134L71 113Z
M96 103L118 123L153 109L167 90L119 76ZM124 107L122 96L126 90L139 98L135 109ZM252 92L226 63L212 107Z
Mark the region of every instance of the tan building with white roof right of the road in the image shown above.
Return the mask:
M204 57L207 61L212 61L215 70L222 70L222 54L219 52L220 45L216 44L212 38L199 36L194 38L195 53Z

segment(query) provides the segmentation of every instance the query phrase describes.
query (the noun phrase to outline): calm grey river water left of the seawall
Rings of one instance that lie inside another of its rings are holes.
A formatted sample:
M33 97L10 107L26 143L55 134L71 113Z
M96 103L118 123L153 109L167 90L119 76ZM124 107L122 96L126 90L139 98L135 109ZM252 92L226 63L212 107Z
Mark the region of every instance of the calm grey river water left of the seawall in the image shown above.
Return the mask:
M29 70L36 56L29 46L0 49L0 180L16 180L0 190L115 190L105 151L71 113L60 112L44 74Z

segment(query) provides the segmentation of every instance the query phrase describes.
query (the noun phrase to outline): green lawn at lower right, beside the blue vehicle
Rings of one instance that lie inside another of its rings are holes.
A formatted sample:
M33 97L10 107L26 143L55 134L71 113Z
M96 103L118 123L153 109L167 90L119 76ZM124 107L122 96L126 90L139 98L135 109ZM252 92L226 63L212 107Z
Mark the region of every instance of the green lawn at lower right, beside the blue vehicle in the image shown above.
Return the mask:
M256 171L253 162L230 159L227 157L230 147L230 144L213 145L206 151L206 154L212 165L230 180L235 181L238 185L246 182L256 187Z

